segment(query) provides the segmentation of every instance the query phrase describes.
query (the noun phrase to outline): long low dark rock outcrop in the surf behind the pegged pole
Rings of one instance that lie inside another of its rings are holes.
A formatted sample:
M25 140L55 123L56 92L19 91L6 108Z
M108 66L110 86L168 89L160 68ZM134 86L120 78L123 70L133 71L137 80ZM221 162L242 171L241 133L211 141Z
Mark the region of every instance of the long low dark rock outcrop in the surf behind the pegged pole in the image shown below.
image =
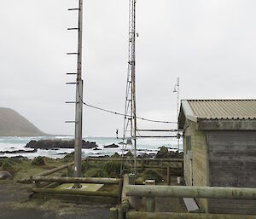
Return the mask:
M74 141L62 141L62 140L39 140L39 141L30 141L26 144L26 147L35 148L35 149L44 149L52 150L56 148L74 148ZM82 147L84 149L91 149L98 147L96 142L82 141Z

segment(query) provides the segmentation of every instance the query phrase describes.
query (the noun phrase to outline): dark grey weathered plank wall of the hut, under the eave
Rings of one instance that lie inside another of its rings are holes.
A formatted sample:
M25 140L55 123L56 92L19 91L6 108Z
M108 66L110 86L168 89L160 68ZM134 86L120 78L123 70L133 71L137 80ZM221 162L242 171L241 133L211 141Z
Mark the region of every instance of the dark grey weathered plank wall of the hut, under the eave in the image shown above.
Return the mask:
M256 187L256 131L209 131L209 183ZM211 213L256 214L256 201L209 199Z

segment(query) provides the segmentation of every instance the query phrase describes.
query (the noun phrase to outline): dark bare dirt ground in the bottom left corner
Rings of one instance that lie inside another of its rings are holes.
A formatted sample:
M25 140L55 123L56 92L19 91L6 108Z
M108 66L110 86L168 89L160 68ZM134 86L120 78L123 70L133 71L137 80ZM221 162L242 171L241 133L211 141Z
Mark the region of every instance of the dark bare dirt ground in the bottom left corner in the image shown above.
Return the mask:
M28 200L30 187L0 184L0 219L109 219L111 205L76 205L59 200Z

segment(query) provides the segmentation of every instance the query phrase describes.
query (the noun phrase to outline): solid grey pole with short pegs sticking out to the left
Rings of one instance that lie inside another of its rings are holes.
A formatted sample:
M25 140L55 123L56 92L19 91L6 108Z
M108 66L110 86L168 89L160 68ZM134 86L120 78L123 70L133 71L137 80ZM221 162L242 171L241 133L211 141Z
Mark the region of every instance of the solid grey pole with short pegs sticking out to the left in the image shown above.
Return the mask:
M83 0L79 0L78 9L68 9L68 10L78 10L79 11L79 27L78 28L68 28L67 30L78 30L78 52L77 53L67 53L67 55L78 55L77 62L77 72L67 73L76 74L76 105L75 110L75 139L74 139L74 170L73 176L80 177L82 172L82 121L83 121L83 80L82 80L82 33L83 33ZM73 103L73 102L67 102ZM75 184L73 187L80 187L79 184Z

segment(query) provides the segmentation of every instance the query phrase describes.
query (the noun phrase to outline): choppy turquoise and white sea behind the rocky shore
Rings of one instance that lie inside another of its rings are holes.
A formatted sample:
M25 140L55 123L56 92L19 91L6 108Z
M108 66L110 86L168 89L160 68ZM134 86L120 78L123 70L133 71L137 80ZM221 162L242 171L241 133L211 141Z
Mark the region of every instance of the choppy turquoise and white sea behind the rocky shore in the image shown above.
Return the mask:
M71 140L73 136L50 136L50 137L0 137L0 157L15 157L23 156L26 158L35 158L44 156L49 158L63 158L66 153L73 153L74 149L57 149L57 150L42 150L38 149L37 153L3 153L4 151L17 151L17 150L32 150L32 148L25 147L29 141L40 139L61 139ZM113 137L84 137L85 141L96 142L101 150L83 149L83 157L87 156L104 156L112 155L113 153L121 154L122 145L119 144L122 140ZM119 148L103 148L110 144L119 144ZM173 151L177 150L177 139L172 138L145 138L137 140L137 154L152 153L155 154L159 147L166 146L172 148ZM182 141L179 142L179 147L182 149ZM131 148L131 147L127 147Z

